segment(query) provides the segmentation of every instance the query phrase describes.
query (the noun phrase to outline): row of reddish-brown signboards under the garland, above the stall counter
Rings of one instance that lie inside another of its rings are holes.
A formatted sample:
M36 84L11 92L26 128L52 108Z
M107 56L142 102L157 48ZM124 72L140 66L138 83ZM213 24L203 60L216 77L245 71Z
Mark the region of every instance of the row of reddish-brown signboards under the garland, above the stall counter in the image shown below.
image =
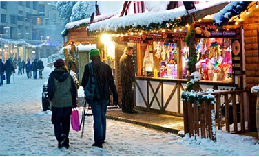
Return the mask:
M142 34L141 36L119 36L120 43L146 43L152 44L153 41L176 43L177 40L185 40L186 34L175 34L171 32L163 32L162 34Z

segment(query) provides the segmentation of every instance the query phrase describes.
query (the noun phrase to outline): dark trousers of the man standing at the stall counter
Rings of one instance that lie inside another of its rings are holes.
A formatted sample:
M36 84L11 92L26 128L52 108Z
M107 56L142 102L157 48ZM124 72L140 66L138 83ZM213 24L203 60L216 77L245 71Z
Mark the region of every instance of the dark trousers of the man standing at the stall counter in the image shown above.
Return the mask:
M121 82L123 88L121 109L123 112L131 112L134 108L134 93L132 90L132 82Z

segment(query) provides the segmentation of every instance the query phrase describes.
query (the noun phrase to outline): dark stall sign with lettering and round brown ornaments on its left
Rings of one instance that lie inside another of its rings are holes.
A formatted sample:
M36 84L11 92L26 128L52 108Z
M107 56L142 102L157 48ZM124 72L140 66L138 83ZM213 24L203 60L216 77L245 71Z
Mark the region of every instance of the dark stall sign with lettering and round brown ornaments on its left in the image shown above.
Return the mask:
M196 38L236 38L236 29L217 29L212 24L196 24Z

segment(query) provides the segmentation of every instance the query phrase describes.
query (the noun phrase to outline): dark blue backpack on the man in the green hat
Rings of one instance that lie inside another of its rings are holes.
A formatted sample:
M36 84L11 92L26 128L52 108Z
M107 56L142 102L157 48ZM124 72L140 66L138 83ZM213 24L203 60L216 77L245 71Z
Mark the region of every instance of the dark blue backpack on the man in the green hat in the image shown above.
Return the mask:
M96 86L96 79L94 78L92 63L88 64L88 67L89 67L89 77L88 77L88 82L85 86L85 97L87 100L91 101L94 99L94 97L99 99L100 95Z

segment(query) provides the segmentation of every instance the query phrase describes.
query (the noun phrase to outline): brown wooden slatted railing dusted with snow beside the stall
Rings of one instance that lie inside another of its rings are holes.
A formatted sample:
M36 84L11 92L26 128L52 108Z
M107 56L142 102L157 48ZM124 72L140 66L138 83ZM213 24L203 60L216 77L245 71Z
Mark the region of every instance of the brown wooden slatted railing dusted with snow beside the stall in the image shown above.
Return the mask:
M201 138L210 138L216 141L216 122L218 124L218 130L222 130L222 126L225 124L227 132L249 132L249 92L249 90L231 90L211 93L216 99L216 104L212 104L211 101L201 101L200 104L196 104L196 100L192 100L193 102L184 100L183 117L185 134L189 133L189 136L200 136ZM203 93L202 95L207 95L207 93ZM223 108L221 106L221 97L224 97L224 119L222 118ZM230 102L233 108L232 115L229 114ZM240 106L239 112L238 104ZM233 124L230 123L232 118L230 116L233 117ZM238 121L239 119L240 121ZM247 128L245 127L245 120L247 121ZM240 130L238 130L239 123ZM230 130L231 125L233 125L233 130Z

